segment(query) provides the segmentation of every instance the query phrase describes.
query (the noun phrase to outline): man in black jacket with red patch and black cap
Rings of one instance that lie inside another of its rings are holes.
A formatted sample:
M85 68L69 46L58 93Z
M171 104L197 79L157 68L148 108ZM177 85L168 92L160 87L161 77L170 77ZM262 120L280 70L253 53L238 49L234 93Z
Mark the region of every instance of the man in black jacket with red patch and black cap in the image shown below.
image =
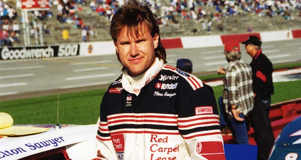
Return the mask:
M250 36L242 42L247 53L253 58L250 64L253 72L254 108L250 114L251 126L255 131L258 145L258 160L267 160L274 142L274 135L269 119L271 95L274 94L272 80L273 66L261 51L261 40Z

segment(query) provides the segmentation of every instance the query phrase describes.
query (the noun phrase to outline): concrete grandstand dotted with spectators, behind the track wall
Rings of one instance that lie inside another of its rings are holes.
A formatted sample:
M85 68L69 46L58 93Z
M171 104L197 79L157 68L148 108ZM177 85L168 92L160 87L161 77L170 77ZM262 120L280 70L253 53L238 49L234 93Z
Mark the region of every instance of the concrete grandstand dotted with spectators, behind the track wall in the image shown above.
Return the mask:
M108 12L101 13L100 15L97 4L103 7L106 11L110 10L114 13L116 9L122 4L122 1L101 1L101 0L87 0L87 1L50 1L51 3L51 14L45 14L46 17L42 18L42 24L45 24L48 28L49 34L44 32L44 44L55 44L55 43L77 43L82 41L82 29L93 29L93 34L90 34L89 41L102 41L111 40L109 35L110 26L110 14ZM270 30L286 30L286 29L300 29L301 28L301 17L299 0L290 1L289 4L280 3L278 1L272 1L274 4L272 8L267 5L267 1L258 2L247 0L242 1L207 1L207 0L196 0L196 1L145 1L150 4L152 10L160 22L161 37L180 37L180 36L191 36L191 35L225 35L234 33L246 33L246 32L259 32L259 31L270 31ZM65 10L62 6L70 4L73 9ZM62 6L60 6L62 4ZM94 4L94 5L93 5ZM108 5L111 4L111 5ZM94 6L94 7L93 7ZM217 7L218 6L218 7ZM11 19L10 25L13 22L19 24L19 34L9 34L6 38L12 41L14 46L22 46L23 42L23 28L21 23L21 10L18 7L18 1L15 0L1 0L0 12L4 9L10 8L15 9L16 17ZM200 9L201 8L201 9ZM95 9L95 10L93 10ZM193 12L192 12L193 10ZM62 12L63 21L57 19L57 15ZM44 14L44 13L43 13ZM3 29L4 18L3 14L0 14L2 19ZM34 17L41 17L40 15L32 12L29 13L30 20L33 21ZM51 15L51 16L50 16ZM187 16L186 16L187 15ZM206 15L206 16L205 16ZM77 19L82 19L83 24L78 24ZM40 18L41 19L41 18ZM159 20L160 19L160 20ZM211 19L212 25L210 31L208 26L203 28L203 25L208 25L208 21ZM161 24L162 23L162 24ZM89 26L89 28L88 28ZM250 28L251 27L251 28ZM249 29L248 29L249 28ZM62 30L69 32L69 38L62 38ZM5 32L6 33L6 32ZM89 33L89 31L88 31ZM3 34L0 34L3 37ZM5 36L4 36L5 38ZM1 39L4 39L1 38ZM18 38L19 42L17 39ZM7 45L7 41L1 40L1 45ZM34 36L31 36L31 45L34 45Z

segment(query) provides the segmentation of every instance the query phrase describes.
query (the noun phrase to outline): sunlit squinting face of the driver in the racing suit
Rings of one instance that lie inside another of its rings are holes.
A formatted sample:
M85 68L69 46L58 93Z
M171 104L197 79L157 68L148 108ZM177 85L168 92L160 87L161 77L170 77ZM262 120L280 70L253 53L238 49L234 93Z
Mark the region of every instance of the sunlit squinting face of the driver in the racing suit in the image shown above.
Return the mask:
M140 27L138 37L128 34L126 26L121 29L114 45L121 63L128 68L131 76L140 75L154 64L158 41L159 35L152 37L144 24Z

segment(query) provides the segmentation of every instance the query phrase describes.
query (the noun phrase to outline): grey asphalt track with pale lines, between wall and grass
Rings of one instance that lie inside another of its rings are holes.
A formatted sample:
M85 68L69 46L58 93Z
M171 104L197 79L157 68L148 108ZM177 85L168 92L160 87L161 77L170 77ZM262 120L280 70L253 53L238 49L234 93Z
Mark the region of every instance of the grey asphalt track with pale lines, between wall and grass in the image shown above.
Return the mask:
M243 45L240 50L241 59L250 63ZM227 64L223 51L223 46L170 49L167 64L176 66L177 59L188 58L193 74L214 72ZM300 61L301 39L264 42L262 51L273 64ZM121 67L115 55L0 61L0 100L105 88Z

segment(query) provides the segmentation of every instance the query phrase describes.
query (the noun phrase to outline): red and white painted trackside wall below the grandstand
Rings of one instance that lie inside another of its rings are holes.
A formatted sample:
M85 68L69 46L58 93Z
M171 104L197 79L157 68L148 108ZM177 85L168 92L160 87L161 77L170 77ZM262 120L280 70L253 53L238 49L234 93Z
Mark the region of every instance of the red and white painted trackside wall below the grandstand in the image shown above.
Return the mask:
M204 35L204 36L186 36L178 38L161 39L165 49L176 48L202 48L222 46L229 40L242 42L248 39L250 35L258 36L262 42L292 40L301 38L301 29L266 31L259 33L233 34L233 35ZM101 42L83 42L80 43L80 56L109 55L115 54L113 41Z

